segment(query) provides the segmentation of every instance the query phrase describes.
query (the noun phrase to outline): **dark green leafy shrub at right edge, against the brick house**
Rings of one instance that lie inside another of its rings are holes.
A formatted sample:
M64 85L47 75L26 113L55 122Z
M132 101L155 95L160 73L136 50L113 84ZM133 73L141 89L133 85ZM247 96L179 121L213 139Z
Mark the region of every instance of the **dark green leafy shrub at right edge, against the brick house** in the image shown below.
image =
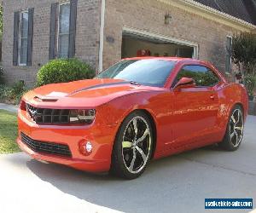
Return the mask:
M245 74L256 72L256 33L241 32L233 37L232 60L241 68Z

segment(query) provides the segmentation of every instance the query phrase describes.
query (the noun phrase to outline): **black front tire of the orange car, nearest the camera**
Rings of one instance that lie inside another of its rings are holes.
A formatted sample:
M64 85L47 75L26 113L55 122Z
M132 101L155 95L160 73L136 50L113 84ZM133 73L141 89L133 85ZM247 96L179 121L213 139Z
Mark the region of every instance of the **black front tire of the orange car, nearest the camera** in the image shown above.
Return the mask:
M134 130L134 120L136 121L137 130ZM145 122L145 124L144 124ZM132 124L131 124L132 123ZM141 126L141 127L140 127ZM143 126L145 126L145 130L143 130ZM147 128L147 129L146 129ZM149 131L149 134L146 134L146 131ZM137 133L136 133L137 132ZM130 135L131 134L131 135ZM133 137L133 135L135 135ZM143 138L143 135L146 135L146 137L143 139L143 141L139 141L139 139ZM129 140L130 137L134 138L134 140ZM126 147L125 139L127 138L127 141L129 146ZM135 140L135 138L137 138ZM131 142L130 142L131 141ZM131 143L133 144L133 147L131 146ZM141 176L146 169L146 166L149 162L149 159L152 155L152 149L153 149L153 143L154 143L154 135L153 135L153 128L152 124L150 122L150 119L148 118L148 115L142 111L134 111L129 114L123 123L120 125L119 131L116 135L114 144L113 144L113 152L112 152L112 162L111 162L111 168L110 173L114 176L119 176L121 178L125 178L128 180L135 179L138 176ZM137 148L139 150L137 150ZM143 153L140 153L143 151ZM134 154L135 152L135 154ZM144 155L143 155L144 154ZM147 156L147 160L143 161L143 157ZM135 160L133 161L133 157L135 156ZM140 164L140 158L142 160L142 167L139 168L137 171L133 171L136 164ZM133 164L128 168L129 162L133 161Z

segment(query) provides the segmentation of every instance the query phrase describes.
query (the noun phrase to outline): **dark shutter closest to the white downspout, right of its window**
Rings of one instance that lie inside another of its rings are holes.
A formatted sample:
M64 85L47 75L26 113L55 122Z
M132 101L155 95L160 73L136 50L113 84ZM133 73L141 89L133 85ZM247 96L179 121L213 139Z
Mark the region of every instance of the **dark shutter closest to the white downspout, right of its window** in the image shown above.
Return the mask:
M70 1L68 58L73 58L75 55L77 5L78 0Z

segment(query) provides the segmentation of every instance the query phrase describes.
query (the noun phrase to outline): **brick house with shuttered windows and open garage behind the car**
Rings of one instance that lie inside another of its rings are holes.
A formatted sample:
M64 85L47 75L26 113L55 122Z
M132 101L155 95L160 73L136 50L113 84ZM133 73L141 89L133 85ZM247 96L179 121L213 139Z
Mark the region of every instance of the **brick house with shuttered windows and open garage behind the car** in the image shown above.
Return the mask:
M255 31L255 14L255 0L3 0L4 74L32 85L51 59L77 57L102 71L145 53L230 72L232 35Z

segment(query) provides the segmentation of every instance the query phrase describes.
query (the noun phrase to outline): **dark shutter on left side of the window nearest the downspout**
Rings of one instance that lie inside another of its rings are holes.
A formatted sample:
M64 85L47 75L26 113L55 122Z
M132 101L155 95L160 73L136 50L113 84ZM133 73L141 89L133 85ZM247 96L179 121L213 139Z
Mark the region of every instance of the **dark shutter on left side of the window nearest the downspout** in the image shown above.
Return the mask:
M56 20L58 3L52 3L50 9L49 24L49 60L55 59L55 41L56 41Z

